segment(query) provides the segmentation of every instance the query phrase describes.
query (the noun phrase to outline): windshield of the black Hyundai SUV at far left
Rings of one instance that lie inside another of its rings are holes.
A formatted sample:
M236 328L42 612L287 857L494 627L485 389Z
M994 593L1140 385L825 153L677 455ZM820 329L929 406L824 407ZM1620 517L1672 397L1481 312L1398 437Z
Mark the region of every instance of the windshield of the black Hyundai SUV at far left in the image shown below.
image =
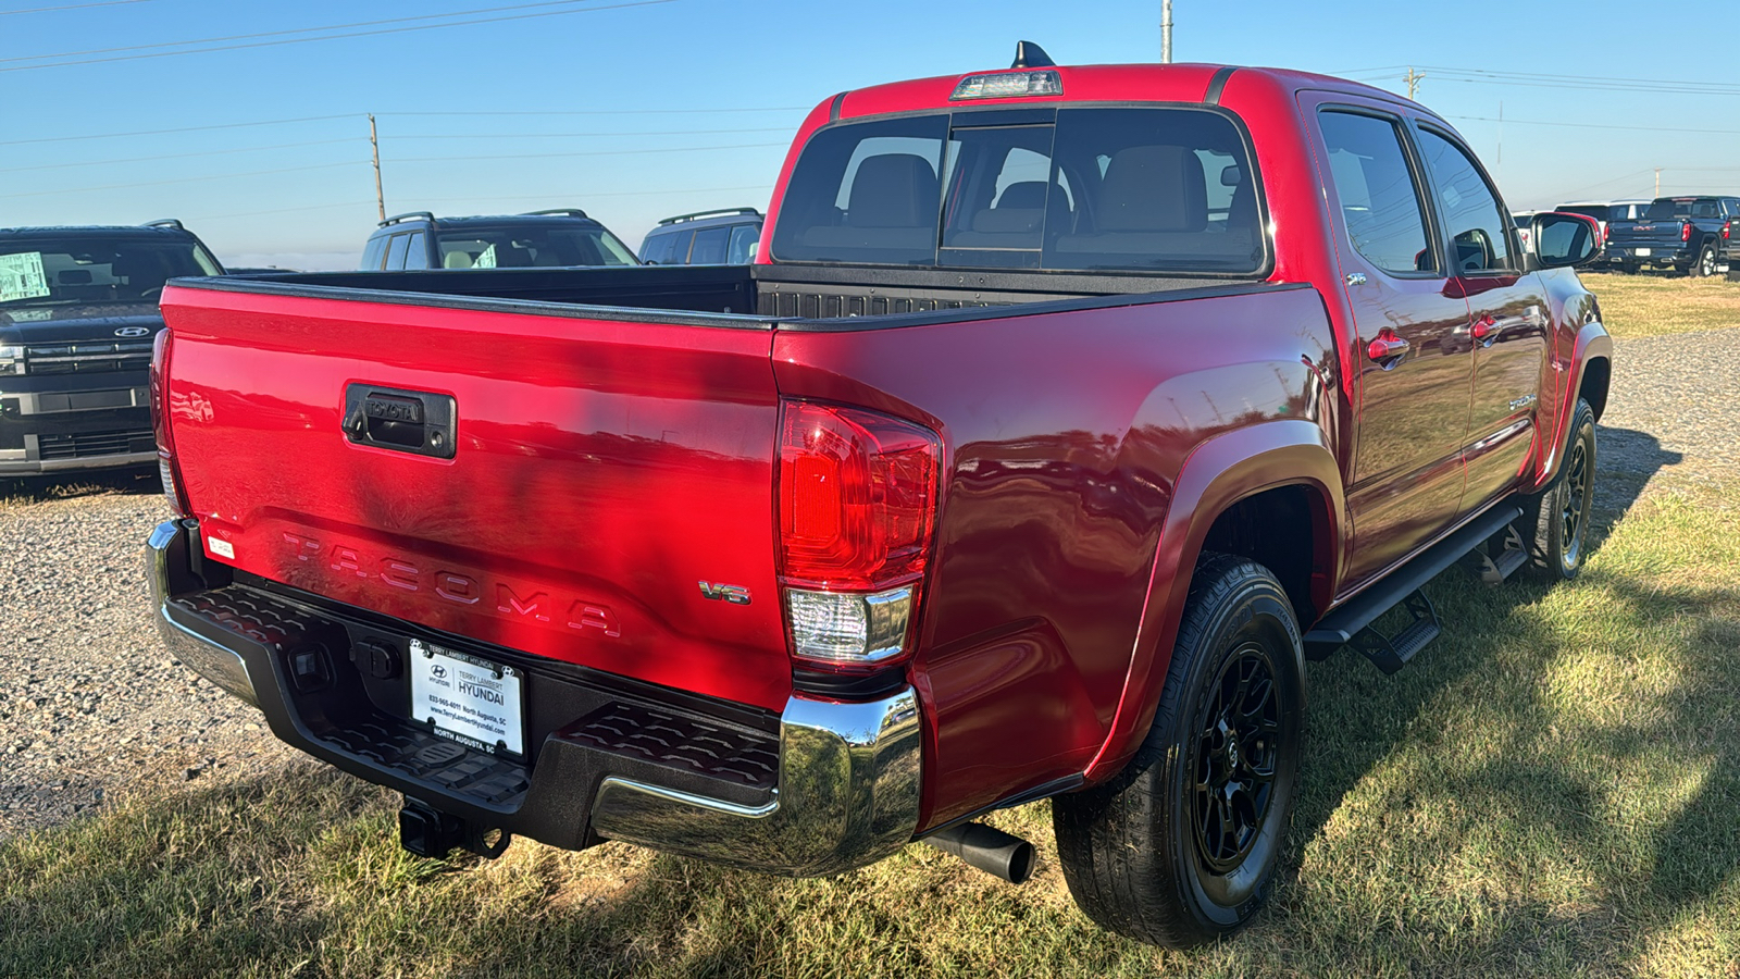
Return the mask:
M221 275L193 240L9 239L0 244L0 307L155 301L179 275Z

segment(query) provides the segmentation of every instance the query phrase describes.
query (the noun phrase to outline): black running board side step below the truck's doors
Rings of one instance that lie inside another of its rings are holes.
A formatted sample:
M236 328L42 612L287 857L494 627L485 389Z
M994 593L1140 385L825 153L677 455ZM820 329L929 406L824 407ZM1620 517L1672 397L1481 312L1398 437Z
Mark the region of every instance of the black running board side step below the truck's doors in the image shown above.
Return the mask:
M1521 516L1522 507L1505 500L1462 524L1444 540L1439 540L1432 547L1422 550L1413 561L1373 582L1371 587L1350 598L1329 615L1324 615L1317 625L1305 632L1305 657L1312 660L1324 660L1329 658L1329 653L1340 650L1342 646L1352 645L1359 648L1354 638L1366 631L1366 627L1371 625L1380 615L1406 603L1420 591L1422 585L1436 578L1439 571L1460 561L1463 554L1474 550L1486 542L1486 538L1505 530L1510 521ZM1420 599L1423 601L1425 596L1422 594ZM1389 653L1385 653L1383 658L1373 657L1373 662L1378 664L1378 669L1383 672L1395 672L1395 669L1401 669L1401 664L1408 662L1413 653L1420 652L1420 646L1425 646L1439 634L1437 615L1432 613L1432 603L1425 603L1425 617L1422 617L1420 608L1409 606L1409 610L1415 611L1415 624L1402 629L1394 639L1383 639L1399 662L1387 665L1390 664ZM1422 625L1423 622L1429 622L1430 627ZM1427 636L1427 632L1430 634ZM1408 648L1406 657L1401 655L1404 646Z

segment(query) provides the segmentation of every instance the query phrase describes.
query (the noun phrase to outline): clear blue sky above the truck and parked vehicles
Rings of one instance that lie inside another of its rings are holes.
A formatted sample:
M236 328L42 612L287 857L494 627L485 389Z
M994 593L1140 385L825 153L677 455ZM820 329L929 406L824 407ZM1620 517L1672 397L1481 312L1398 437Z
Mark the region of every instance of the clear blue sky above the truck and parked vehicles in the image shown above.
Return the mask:
M1650 197L1655 167L1663 193L1740 192L1731 0L1442 10L1174 0L1173 54L1394 91L1423 66L1420 101L1516 209ZM231 265L348 267L376 221L372 111L388 213L578 206L639 246L661 216L764 207L833 92L1006 66L1020 38L1157 61L1159 19L1157 0L0 0L0 225L177 216ZM487 23L407 30L454 21ZM183 44L204 38L230 40Z

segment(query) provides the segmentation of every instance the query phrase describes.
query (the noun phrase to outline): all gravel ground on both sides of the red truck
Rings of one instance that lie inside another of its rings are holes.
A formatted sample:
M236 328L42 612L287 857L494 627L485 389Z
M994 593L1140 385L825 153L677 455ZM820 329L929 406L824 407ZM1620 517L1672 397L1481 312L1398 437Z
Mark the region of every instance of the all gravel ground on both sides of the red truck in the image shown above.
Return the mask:
M1603 503L1740 472L1740 329L1615 341ZM155 483L0 484L0 838L117 793L256 777L296 758L252 707L169 662L146 606ZM150 481L144 481L150 483Z

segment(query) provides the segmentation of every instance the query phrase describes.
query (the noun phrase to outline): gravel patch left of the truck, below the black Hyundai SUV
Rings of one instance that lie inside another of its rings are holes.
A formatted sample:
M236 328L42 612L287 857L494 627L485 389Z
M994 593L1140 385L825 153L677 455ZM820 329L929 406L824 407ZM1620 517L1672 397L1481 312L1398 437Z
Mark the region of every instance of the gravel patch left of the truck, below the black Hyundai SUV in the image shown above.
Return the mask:
M0 838L118 791L252 775L296 754L258 711L165 657L143 550L169 507L146 483L0 500Z

